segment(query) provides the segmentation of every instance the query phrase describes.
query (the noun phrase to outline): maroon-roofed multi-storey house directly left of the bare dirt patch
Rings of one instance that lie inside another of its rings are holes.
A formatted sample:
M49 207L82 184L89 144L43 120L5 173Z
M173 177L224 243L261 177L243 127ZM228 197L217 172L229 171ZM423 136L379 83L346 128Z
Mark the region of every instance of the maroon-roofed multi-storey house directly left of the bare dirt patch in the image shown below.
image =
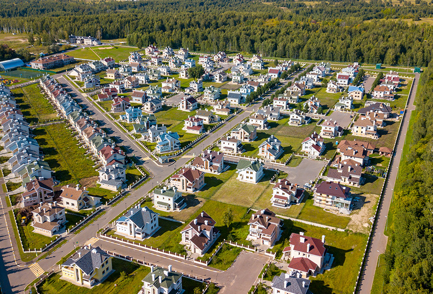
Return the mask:
M313 205L340 211L352 210L351 188L330 181L322 182L314 188Z

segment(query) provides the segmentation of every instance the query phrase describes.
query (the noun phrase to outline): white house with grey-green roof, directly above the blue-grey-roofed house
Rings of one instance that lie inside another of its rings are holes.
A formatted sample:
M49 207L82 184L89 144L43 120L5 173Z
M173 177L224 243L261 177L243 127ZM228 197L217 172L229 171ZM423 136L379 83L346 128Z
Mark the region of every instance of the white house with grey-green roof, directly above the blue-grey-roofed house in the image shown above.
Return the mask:
M163 211L181 211L187 206L182 192L176 187L167 186L153 191L153 204L156 209Z

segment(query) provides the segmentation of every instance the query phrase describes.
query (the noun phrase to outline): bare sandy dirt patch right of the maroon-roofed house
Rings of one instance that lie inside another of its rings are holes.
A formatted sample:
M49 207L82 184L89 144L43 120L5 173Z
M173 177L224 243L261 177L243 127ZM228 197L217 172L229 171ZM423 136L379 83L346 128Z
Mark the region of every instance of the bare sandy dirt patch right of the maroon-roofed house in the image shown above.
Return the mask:
M368 234L371 227L369 219L375 214L374 208L378 203L379 196L375 194L352 195L359 199L354 202L353 211L350 215L351 221L349 221L347 229L353 232Z

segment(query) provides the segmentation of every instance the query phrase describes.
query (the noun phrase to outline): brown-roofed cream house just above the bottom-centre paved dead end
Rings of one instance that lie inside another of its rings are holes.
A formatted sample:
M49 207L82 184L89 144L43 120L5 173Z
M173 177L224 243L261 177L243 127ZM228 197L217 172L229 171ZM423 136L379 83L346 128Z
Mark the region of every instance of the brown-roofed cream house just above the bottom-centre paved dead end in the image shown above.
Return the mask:
M257 240L260 245L272 246L279 239L283 221L268 208L253 213L248 221L246 240Z

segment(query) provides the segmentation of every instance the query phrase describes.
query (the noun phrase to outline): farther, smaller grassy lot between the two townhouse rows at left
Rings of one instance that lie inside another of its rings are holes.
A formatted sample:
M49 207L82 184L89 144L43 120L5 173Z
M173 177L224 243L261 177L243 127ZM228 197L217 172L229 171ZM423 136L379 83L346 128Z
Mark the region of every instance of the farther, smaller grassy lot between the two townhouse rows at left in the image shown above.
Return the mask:
M12 90L23 115L30 124L43 123L57 118L57 113L37 84Z

